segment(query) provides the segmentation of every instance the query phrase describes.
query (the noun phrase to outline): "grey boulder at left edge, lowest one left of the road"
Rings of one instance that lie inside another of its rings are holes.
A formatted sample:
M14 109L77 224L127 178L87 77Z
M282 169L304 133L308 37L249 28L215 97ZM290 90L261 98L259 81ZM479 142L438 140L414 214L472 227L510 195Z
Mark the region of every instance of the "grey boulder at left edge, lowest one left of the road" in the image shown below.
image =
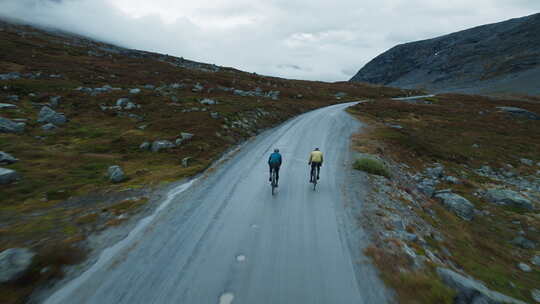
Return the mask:
M35 253L26 248L10 248L0 252L0 283L18 279L32 264Z

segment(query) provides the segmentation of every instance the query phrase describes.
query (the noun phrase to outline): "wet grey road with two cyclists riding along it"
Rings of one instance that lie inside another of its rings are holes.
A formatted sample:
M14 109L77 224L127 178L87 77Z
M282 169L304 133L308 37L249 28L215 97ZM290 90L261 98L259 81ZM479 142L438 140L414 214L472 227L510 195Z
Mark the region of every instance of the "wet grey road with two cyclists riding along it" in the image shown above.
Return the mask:
M46 303L388 302L346 231L356 227L343 203L349 137L358 128L344 112L350 105L265 132L212 174L175 189L155 216ZM266 160L274 147L284 162L272 196ZM307 157L315 147L325 163L314 192Z

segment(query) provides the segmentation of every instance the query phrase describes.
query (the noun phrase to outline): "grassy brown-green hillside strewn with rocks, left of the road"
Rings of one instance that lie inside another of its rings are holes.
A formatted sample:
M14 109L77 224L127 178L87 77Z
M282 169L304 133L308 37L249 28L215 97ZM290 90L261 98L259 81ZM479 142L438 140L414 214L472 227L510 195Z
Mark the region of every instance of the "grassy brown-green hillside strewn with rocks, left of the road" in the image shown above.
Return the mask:
M88 236L152 210L154 192L261 131L322 106L413 93L265 77L0 22L0 252L36 254L18 280L0 281L0 302L62 276Z

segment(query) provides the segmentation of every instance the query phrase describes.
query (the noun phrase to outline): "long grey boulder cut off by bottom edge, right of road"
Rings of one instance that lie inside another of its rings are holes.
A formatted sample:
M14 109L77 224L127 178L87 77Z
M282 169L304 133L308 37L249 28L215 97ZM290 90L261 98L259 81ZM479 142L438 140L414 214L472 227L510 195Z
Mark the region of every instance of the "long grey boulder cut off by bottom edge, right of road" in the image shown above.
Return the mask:
M488 289L483 283L447 268L438 267L437 274L448 287L457 292L454 303L526 304L520 300Z

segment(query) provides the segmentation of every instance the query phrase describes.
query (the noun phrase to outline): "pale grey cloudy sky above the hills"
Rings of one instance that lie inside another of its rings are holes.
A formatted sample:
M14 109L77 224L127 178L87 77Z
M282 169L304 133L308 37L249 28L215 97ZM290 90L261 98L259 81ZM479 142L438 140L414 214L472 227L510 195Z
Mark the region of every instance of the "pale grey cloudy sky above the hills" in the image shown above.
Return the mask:
M295 79L348 80L388 48L540 11L539 0L0 0L0 16Z

